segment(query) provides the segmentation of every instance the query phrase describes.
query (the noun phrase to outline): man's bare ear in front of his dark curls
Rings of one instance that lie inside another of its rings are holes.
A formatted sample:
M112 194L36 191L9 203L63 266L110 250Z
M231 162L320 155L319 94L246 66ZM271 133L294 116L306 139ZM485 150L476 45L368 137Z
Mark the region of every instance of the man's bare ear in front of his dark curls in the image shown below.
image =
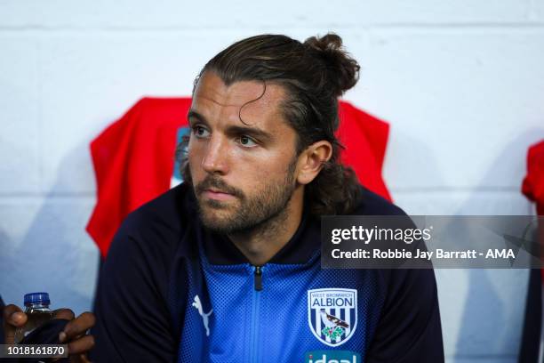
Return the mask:
M316 179L325 162L332 157L332 145L329 141L317 141L308 146L299 156L297 181L309 184Z

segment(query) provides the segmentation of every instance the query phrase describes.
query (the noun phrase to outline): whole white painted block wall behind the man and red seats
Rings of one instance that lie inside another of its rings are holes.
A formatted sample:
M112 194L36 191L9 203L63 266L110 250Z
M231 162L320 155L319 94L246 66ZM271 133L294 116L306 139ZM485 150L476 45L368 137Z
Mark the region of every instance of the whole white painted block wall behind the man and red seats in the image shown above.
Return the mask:
M544 0L0 0L0 294L91 309L88 145L144 95L188 95L244 36L335 31L363 69L348 101L391 124L385 177L410 214L529 214L544 138ZM527 271L437 270L450 362L514 362Z

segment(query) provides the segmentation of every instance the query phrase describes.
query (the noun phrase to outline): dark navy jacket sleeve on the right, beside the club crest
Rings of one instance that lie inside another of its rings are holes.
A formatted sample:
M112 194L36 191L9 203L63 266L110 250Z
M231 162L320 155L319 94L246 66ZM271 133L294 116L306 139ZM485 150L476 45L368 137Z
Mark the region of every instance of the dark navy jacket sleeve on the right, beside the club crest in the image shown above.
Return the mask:
M370 190L362 197L354 215L396 215L396 223L412 228L403 209ZM425 248L425 246L420 246ZM369 361L444 362L442 330L432 265L428 269L376 270L383 294L380 323L368 351ZM398 338L398 337L401 338ZM422 351L425 351L422 353Z

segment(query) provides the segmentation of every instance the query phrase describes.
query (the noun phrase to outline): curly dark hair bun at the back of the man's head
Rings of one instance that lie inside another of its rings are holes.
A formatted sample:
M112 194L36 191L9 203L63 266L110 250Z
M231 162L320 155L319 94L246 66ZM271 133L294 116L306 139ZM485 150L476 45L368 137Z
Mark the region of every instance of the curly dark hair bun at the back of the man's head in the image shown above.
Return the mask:
M334 93L341 96L356 85L361 67L342 46L342 38L334 33L322 37L311 36L304 44L319 53L329 76L327 81Z

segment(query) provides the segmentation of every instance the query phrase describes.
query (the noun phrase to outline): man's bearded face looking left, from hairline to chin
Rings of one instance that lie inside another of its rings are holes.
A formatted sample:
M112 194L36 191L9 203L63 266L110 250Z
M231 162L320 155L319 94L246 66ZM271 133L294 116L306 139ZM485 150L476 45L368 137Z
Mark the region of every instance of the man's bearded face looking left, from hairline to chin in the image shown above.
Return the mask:
M227 86L212 72L196 86L188 167L202 221L220 233L286 215L295 190L296 133L280 112L284 89L263 91L262 82Z

